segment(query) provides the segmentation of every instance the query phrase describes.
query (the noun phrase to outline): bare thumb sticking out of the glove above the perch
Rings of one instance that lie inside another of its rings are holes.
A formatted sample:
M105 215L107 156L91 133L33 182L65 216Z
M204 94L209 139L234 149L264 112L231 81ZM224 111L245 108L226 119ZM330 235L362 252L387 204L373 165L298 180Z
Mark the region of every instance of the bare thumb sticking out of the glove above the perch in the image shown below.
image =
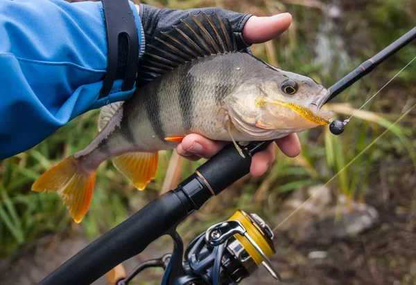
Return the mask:
M248 44L258 44L275 39L292 23L292 15L282 13L271 17L252 16L243 28L243 39Z

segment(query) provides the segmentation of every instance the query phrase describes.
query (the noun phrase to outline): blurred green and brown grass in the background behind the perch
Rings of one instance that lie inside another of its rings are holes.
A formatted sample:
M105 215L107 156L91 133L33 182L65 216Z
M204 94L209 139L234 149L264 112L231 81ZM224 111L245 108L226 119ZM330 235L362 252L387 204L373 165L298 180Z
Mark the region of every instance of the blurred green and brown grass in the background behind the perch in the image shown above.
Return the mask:
M411 0L150 0L146 3L181 9L219 6L259 16L291 12L293 24L288 32L267 44L252 46L252 51L279 68L308 75L324 86L331 86L413 28L416 22L416 3ZM340 9L338 17L337 9ZM409 45L340 95L334 101L349 104L337 105L338 118L347 118L348 110L361 107L415 55L415 44ZM415 74L416 64L412 64L364 107L371 111L370 117L352 119L342 136L332 136L323 127L304 131L300 134L301 156L291 159L279 153L266 175L247 176L235 183L220 199L211 199L200 212L184 221L180 232L185 239L194 237L209 224L227 219L236 208L257 211L267 220L279 210L289 192L329 180L416 103ZM96 237L157 197L171 151L161 155L157 178L144 192L137 192L110 161L103 163L98 168L92 205L80 225L71 221L58 195L31 192L31 184L40 174L65 156L83 149L98 134L98 113L99 110L85 113L40 145L0 163L0 255L10 255L36 237L64 229L81 227L88 238ZM406 116L338 176L331 184L333 191L348 199L363 199L365 190L372 187L369 178L379 163L392 163L409 154L414 159L415 120L415 112ZM200 163L184 163L182 178Z

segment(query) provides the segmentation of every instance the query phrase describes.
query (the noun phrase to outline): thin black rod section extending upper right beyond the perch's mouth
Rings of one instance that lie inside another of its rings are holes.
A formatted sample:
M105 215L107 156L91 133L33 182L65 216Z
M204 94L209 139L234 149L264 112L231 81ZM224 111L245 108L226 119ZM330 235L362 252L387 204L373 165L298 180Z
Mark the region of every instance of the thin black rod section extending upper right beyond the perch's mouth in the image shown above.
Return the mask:
M398 50L400 50L401 48L403 48L404 46L412 42L413 39L415 38L416 38L416 27L413 28L412 30L409 30L408 33L402 35L399 39L397 39L395 42L390 44L390 46L384 48L383 50L381 50L381 52L374 55L374 57L367 59L360 66L355 68L354 71L348 73L345 77L338 80L336 84L333 84L331 87L329 87L331 96L327 99L325 103L335 98L336 95L343 92L345 89L347 89L349 86L354 84L361 77L370 73L370 71L372 71L376 66L381 64L381 62L384 62L385 59L388 59L388 57L395 54Z

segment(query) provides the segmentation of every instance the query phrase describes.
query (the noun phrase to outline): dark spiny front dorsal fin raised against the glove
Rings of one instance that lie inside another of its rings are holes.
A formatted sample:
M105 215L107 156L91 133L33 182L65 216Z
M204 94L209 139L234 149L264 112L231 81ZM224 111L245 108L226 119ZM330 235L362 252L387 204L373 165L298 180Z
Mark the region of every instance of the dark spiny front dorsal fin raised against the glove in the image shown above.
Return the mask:
M229 21L218 14L189 15L171 30L146 43L139 61L139 86L198 57L237 51Z

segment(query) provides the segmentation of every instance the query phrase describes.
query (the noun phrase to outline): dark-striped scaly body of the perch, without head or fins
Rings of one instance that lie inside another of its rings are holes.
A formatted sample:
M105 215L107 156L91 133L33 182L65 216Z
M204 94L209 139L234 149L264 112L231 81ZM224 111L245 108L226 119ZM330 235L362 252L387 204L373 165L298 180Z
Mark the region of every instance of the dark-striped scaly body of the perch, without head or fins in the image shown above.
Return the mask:
M102 160L128 151L176 147L177 143L166 138L201 134L212 140L230 140L224 126L224 98L253 72L270 77L276 71L246 53L211 55L178 66L125 101L92 143L93 150L79 155L96 167ZM236 129L234 137L250 140Z

